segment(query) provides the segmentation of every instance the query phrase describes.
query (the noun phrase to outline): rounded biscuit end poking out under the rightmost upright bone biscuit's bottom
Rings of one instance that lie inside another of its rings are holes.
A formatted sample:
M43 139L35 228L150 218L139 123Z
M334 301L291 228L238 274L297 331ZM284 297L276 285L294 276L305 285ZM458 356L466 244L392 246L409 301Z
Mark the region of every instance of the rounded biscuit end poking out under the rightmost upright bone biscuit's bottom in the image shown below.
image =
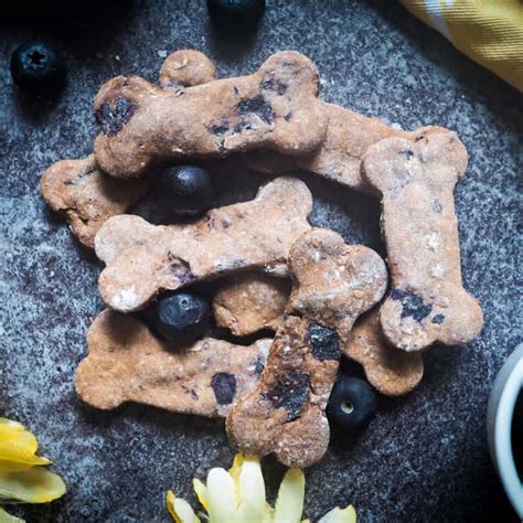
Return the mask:
M421 354L401 351L385 340L378 308L355 322L345 354L360 363L371 385L387 396L408 394L423 377Z

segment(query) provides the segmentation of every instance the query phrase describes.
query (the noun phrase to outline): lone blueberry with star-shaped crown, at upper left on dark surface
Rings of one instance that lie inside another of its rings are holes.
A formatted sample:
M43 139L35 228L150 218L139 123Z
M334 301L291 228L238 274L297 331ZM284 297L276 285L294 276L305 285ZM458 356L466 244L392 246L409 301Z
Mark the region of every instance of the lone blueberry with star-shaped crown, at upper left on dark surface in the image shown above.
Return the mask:
M52 95L63 85L65 67L58 53L42 42L19 45L11 56L11 75L23 90Z

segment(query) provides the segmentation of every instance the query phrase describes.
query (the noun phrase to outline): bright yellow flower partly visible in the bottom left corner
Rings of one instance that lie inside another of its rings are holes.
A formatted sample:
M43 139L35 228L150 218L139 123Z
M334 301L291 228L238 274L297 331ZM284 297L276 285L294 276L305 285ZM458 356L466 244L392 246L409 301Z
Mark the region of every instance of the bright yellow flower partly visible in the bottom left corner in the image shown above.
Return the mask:
M17 421L0 418L0 503L46 503L62 497L65 483L42 466L46 458L36 456L36 438ZM20 522L0 508L0 522Z

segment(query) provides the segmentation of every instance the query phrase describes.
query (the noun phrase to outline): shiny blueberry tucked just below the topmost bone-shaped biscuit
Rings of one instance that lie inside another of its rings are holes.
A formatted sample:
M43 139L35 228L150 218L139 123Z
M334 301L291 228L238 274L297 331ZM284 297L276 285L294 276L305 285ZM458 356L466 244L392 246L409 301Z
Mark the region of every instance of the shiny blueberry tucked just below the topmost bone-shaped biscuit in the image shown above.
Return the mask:
M160 175L163 196L172 203L175 214L194 216L209 211L213 205L214 191L211 177L195 166L179 166Z

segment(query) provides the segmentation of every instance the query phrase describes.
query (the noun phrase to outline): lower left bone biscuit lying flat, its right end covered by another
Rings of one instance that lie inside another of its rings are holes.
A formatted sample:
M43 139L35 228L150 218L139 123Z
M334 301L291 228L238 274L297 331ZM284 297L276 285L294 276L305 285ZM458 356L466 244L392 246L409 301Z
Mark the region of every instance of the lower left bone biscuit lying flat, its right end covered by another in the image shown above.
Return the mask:
M205 338L188 349L154 338L138 319L105 310L87 334L89 354L76 371L77 395L111 409L137 402L174 413L225 416L252 391L270 340L249 346Z

